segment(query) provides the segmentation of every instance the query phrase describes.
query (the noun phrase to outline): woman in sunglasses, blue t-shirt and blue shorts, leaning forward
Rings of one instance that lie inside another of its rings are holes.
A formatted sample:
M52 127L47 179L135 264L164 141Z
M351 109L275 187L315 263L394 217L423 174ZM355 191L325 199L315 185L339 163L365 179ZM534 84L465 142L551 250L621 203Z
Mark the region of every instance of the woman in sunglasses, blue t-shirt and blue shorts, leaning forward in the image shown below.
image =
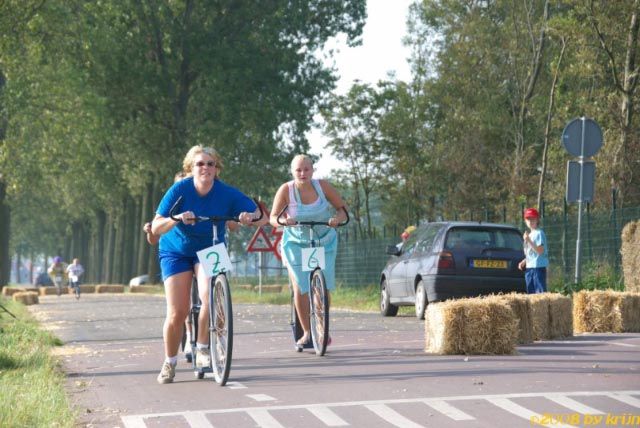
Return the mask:
M197 338L196 365L209 366L209 317L208 277L198 262L196 253L212 245L213 227L217 229L218 243L225 242L225 222L213 226L211 222L196 223L199 216L238 216L242 224L256 226L266 219L251 223L259 217L255 203L238 189L218 178L222 170L222 159L209 147L194 146L184 158L183 170L187 175L167 190L156 211L151 225L154 235L160 236L159 258L164 281L167 314L163 327L165 361L158 375L159 383L173 382L177 364L178 347L182 337L184 320L189 312L191 280L195 273L202 307L200 310ZM174 221L170 217L171 207L182 198L178 207L180 214Z

